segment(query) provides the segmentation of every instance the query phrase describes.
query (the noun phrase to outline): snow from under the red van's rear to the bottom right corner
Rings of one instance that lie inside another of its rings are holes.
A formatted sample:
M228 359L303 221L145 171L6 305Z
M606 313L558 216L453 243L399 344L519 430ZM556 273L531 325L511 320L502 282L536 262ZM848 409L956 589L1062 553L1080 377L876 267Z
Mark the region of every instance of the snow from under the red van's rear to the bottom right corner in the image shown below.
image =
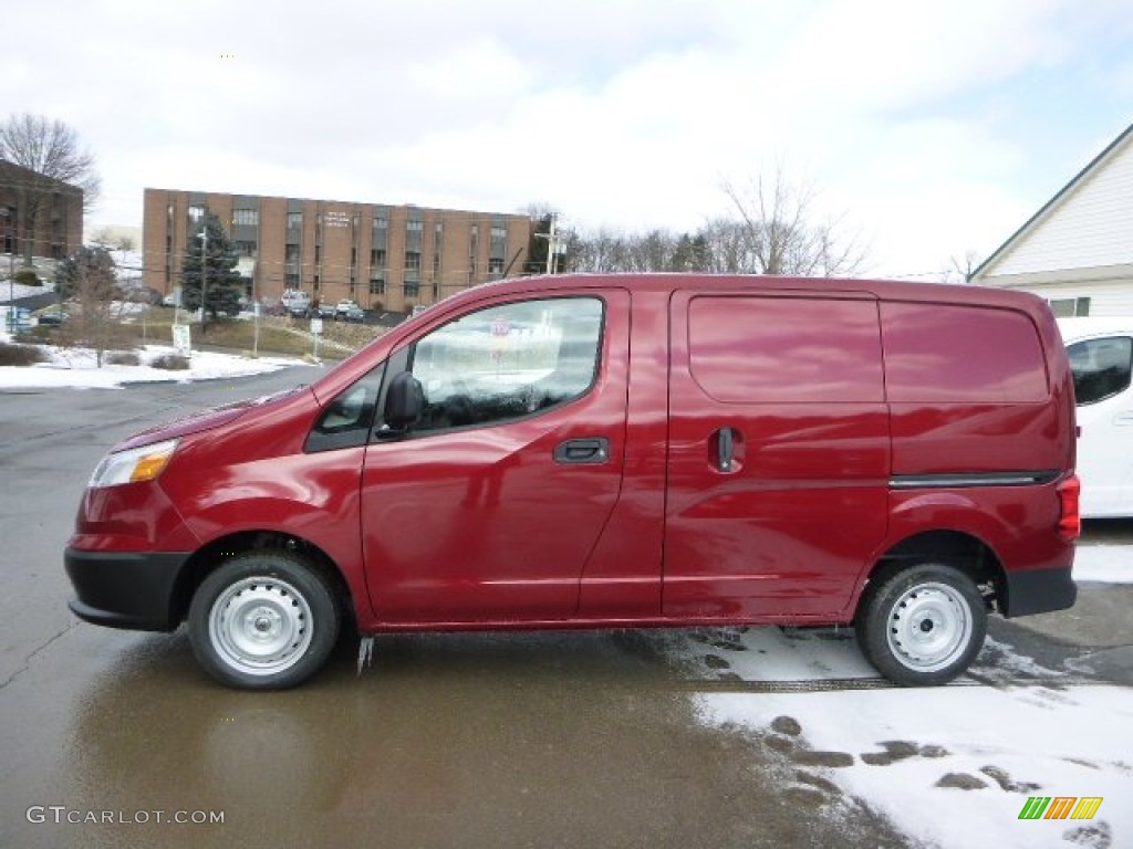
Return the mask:
M1082 685L990 638L982 680L920 689L874 686L847 628L704 629L668 645L701 720L761 738L810 806L837 816L863 800L911 846L1133 846L1128 688ZM1032 796L1104 801L1092 820L1021 821Z

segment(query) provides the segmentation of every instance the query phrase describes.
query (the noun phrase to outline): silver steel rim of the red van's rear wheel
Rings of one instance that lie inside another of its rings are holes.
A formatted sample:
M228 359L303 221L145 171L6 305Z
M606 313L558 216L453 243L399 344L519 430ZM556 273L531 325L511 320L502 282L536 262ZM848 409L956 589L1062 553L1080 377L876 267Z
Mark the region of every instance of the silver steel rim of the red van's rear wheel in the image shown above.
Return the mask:
M932 672L952 664L972 640L972 616L964 597L942 583L919 584L893 606L889 651L902 664Z

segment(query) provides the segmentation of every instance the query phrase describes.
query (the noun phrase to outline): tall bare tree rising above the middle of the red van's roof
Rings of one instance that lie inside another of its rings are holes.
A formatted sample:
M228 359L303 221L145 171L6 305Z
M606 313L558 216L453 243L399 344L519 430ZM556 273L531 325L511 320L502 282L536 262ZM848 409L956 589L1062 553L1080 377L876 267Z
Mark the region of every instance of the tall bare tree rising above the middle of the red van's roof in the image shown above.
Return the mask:
M815 187L790 180L782 164L776 164L770 175L759 174L747 186L725 181L722 189L740 216L739 233L727 234L729 259L742 264L736 271L845 276L857 272L866 259L858 240L841 232L840 218L817 217ZM734 243L735 235L742 237L742 246Z

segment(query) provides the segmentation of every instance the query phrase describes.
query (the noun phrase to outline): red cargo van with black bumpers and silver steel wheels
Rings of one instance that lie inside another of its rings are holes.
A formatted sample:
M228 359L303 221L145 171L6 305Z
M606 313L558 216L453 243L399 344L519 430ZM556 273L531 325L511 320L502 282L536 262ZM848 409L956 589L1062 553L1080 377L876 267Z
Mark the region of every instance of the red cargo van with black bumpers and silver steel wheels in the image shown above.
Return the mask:
M1070 607L1074 396L1031 295L580 275L461 292L95 470L71 609L296 685L340 627L850 624L904 685Z

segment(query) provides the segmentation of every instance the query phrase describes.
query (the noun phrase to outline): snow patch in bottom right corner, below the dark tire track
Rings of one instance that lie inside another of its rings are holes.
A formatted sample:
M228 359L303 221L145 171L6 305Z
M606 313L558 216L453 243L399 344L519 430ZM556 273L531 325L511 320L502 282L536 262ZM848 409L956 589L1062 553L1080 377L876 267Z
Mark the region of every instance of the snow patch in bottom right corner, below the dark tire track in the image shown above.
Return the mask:
M1133 844L1126 688L729 693L699 696L699 710L713 724L791 741L785 760L794 769L863 799L926 846ZM777 734L773 723L799 734ZM1102 803L1092 820L1021 821L1031 796Z

